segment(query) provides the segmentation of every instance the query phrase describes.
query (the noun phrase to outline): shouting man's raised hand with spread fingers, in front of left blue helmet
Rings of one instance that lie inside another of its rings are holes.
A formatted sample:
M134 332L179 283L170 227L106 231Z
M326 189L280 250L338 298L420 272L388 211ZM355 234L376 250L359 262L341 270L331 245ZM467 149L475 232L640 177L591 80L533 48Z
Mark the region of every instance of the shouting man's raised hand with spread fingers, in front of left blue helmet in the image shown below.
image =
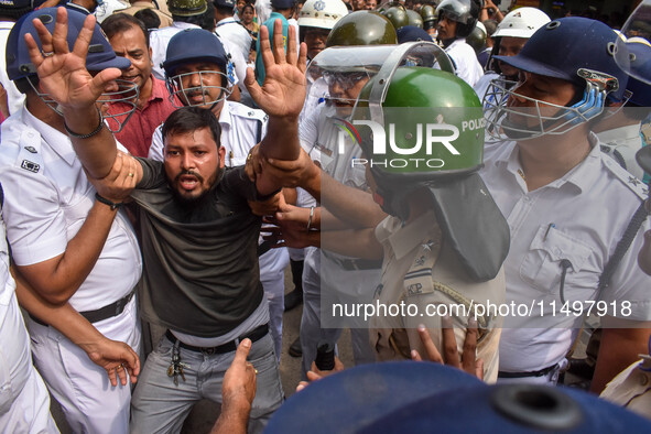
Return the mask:
M68 23L67 11L58 8L56 24L51 34L41 20L33 21L41 41L41 48L31 34L25 35L30 58L36 67L40 86L63 109L79 110L93 105L110 86L110 83L121 75L118 68L107 68L95 76L86 69L86 55L95 29L95 17L89 14L84 21L73 51L67 42Z

